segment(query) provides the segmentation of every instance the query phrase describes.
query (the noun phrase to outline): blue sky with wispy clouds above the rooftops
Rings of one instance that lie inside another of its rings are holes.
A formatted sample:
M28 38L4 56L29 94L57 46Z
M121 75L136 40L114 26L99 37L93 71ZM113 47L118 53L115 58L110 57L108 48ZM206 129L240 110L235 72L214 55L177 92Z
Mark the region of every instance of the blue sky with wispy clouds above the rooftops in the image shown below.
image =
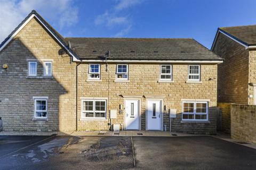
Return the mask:
M256 24L255 0L0 0L0 6L0 41L33 8L64 37L194 38L207 48L218 27Z

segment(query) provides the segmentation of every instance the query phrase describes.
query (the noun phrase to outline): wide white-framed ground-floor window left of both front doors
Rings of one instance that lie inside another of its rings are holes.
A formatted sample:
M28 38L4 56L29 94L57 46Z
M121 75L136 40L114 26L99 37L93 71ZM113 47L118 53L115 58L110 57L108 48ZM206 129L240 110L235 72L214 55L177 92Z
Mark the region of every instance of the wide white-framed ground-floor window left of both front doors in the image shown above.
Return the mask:
M106 118L106 100L82 100L82 118Z

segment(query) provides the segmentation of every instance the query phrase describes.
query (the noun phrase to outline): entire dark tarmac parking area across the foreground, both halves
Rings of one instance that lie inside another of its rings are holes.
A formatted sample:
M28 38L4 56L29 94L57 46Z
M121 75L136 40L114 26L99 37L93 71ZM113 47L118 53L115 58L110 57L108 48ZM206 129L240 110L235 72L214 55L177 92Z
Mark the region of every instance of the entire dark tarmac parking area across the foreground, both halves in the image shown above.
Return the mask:
M0 169L256 169L256 149L213 137L132 140L0 136Z

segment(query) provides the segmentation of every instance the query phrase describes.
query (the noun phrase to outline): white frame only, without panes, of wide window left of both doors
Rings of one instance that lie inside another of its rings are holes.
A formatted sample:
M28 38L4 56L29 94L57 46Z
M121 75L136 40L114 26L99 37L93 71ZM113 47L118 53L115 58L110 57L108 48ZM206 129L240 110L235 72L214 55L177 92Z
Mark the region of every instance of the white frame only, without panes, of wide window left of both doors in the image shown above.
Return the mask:
M84 104L84 101L93 101L93 111L87 111L87 110L83 110L83 104ZM95 101L105 101L105 111L95 111ZM86 112L93 112L93 117L86 117L85 114ZM105 113L105 116L104 117L95 117L95 112L97 113ZM87 118L91 118L91 119L103 119L105 120L106 119L106 116L107 116L107 100L105 99L82 99L81 100L81 118L84 118L84 119L87 119Z

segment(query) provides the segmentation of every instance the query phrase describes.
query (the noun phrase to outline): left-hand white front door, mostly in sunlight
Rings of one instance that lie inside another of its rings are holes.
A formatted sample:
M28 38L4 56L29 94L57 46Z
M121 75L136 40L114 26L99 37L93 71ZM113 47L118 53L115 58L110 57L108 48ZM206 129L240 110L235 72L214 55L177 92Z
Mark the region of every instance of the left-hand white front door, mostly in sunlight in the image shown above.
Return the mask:
M139 100L125 100L125 129L139 130Z

